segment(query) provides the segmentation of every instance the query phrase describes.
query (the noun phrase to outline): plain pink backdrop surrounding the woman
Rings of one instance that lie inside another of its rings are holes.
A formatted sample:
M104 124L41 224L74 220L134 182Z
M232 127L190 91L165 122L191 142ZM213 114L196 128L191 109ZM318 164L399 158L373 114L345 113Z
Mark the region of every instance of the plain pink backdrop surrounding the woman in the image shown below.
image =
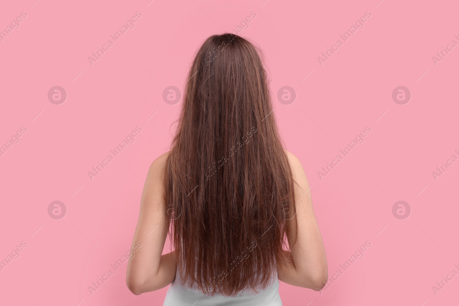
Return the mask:
M162 305L167 288L129 292L127 263L93 295L88 286L129 249L148 167L168 150L180 103L165 103L163 90L182 89L203 40L232 32L252 11L240 35L263 49L273 96L282 86L296 91L290 105L275 98L274 113L312 185L329 276L343 272L322 293L281 284L284 305L457 303L459 276L437 295L432 286L459 273L459 162L437 180L432 172L459 157L459 47L437 65L432 56L459 43L458 4L264 1L2 4L0 29L27 13L0 42L0 145L27 128L0 156L0 259L27 243L0 271L2 305ZM88 56L137 11L135 27L91 66ZM320 65L366 11L364 28ZM53 86L67 92L61 105L47 98ZM397 86L410 90L408 104L392 100ZM91 180L137 126L135 142ZM364 143L321 180L318 171L367 126ZM48 215L55 200L67 207L60 220ZM398 200L412 210L404 220L392 215ZM365 241L364 257L342 270Z

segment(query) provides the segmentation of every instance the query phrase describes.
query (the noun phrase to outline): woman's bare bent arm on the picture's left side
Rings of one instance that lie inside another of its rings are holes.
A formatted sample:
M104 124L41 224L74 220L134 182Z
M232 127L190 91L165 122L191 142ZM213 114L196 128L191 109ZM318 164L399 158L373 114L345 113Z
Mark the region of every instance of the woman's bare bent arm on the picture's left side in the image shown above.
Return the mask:
M126 272L126 284L135 295L166 287L175 279L175 251L162 254L168 234L167 204L165 203L165 166L168 153L159 156L150 166L146 177L140 213Z

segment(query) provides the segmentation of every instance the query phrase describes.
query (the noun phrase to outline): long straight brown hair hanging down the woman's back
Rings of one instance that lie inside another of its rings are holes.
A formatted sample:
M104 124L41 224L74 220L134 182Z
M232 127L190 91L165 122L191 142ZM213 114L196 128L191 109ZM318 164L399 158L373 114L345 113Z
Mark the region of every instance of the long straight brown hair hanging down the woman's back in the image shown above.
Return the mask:
M287 263L285 234L297 233L294 181L261 55L229 33L202 44L168 155L179 273L210 295L269 286Z

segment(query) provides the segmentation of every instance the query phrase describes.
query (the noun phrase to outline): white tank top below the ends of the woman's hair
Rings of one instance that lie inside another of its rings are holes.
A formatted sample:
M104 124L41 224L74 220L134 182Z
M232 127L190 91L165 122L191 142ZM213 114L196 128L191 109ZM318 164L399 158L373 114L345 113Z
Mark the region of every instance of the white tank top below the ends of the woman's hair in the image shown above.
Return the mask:
M277 278L273 278L272 285L258 294L247 291L237 296L211 296L200 292L196 284L193 287L180 284L180 273L177 269L175 280L170 284L162 306L282 306Z

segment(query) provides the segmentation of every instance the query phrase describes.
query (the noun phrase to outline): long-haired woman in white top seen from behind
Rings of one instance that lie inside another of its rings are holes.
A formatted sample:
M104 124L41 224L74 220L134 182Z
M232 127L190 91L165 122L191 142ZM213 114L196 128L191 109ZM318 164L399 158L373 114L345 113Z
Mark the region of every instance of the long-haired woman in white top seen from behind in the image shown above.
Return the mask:
M143 189L126 276L135 295L172 283L163 305L277 306L278 279L324 287L308 181L283 148L259 54L229 33L198 50L171 150ZM162 255L168 233L174 251Z

